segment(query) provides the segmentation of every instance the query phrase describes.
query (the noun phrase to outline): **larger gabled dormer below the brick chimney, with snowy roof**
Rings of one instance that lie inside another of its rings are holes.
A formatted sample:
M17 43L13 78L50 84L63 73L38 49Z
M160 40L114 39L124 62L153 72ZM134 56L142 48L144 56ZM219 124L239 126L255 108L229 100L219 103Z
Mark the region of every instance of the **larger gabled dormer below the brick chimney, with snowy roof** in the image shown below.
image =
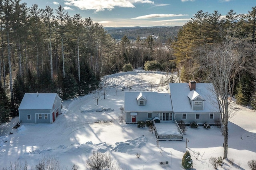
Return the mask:
M190 100L192 110L204 110L205 99L200 96L196 91L190 91L190 93L188 94L188 99Z

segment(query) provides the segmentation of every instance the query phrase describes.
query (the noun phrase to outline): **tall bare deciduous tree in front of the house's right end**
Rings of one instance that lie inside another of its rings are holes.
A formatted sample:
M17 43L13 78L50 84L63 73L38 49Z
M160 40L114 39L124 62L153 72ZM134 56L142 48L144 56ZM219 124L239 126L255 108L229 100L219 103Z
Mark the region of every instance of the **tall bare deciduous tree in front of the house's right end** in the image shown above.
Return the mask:
M217 99L217 107L221 115L224 129L224 156L228 158L228 120L232 116L230 109L234 92L235 76L248 64L250 47L242 39L236 39L228 31L223 42L211 45L200 51L202 70L208 73Z

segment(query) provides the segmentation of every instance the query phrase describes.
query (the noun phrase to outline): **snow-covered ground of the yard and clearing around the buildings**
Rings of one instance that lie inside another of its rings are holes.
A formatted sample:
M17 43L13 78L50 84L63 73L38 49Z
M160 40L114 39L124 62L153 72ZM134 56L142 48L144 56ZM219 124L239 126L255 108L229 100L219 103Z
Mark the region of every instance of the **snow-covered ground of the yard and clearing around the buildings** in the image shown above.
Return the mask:
M35 167L43 156L56 156L63 168L71 169L77 164L79 170L86 169L86 159L93 151L111 152L121 168L125 170L183 169L181 160L189 150L194 169L214 169L208 159L223 156L223 136L217 127L198 129L188 127L183 141L159 141L147 128L120 123L120 107L124 106L124 93L130 81L132 91L150 89L147 81L159 83L162 72L132 71L108 76L106 99L102 96L98 105L94 94L63 101L62 114L53 124L21 125L12 129L18 117L10 123L0 125L0 169L10 162L28 162ZM116 90L118 85L118 90ZM153 91L162 91L154 87ZM219 170L248 170L248 160L256 158L256 113L237 106L237 113L229 123L228 157L234 164L224 161ZM13 132L13 134L9 134ZM186 148L186 139L188 148ZM137 158L136 154L140 153ZM197 154L193 153L200 153ZM196 160L195 157L198 157ZM169 161L169 166L160 166L160 161Z

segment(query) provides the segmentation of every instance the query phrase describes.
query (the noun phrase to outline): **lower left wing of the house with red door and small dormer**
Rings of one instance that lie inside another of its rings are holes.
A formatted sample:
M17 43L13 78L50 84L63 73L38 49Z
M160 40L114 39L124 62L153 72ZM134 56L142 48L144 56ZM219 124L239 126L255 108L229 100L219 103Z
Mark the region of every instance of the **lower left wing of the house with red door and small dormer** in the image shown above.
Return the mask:
M172 121L173 111L169 93L125 92L124 111L126 123L136 123L159 117L162 121Z

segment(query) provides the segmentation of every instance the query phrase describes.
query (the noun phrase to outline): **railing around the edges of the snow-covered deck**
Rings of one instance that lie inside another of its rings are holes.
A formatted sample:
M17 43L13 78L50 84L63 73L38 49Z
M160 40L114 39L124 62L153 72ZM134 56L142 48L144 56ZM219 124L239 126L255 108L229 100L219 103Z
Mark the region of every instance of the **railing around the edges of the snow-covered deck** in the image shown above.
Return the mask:
M178 132L180 132L180 134L158 134L157 129L156 129L156 123L153 119L153 125L154 125L154 130L156 132L157 140L183 140L183 133L181 132L180 127L179 127L178 123L176 122L176 120L174 120L174 124L176 125Z

